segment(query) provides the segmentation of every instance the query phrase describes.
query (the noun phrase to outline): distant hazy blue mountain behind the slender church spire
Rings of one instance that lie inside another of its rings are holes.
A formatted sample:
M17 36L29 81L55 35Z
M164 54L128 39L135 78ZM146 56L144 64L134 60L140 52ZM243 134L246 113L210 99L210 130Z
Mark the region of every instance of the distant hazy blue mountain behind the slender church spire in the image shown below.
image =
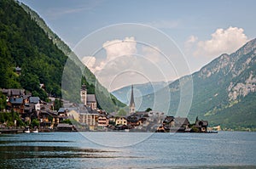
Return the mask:
M170 82L147 82L133 85L135 97L142 97L150 93L159 91L166 87ZM112 94L125 104L129 104L131 99L131 86L121 87L114 90Z

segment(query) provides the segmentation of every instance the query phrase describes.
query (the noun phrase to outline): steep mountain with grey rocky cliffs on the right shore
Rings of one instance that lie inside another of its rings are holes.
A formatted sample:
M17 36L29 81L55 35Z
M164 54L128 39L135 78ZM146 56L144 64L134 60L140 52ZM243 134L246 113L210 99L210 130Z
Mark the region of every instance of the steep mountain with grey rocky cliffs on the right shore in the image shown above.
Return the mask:
M161 109L164 105L170 107L169 115L176 115L181 92L193 91L193 99L189 109L189 120L195 117L208 120L212 126L233 129L256 128L256 39L247 42L233 54L222 54L211 63L191 76L183 76L168 87L157 93L143 97L140 109L154 105L155 96L168 93L171 99L162 99L155 106ZM189 78L193 87L186 90ZM192 82L192 81L191 81ZM181 88L185 88L183 91ZM171 100L171 101L170 101ZM189 96L183 97L189 104ZM182 112L181 112L182 114Z

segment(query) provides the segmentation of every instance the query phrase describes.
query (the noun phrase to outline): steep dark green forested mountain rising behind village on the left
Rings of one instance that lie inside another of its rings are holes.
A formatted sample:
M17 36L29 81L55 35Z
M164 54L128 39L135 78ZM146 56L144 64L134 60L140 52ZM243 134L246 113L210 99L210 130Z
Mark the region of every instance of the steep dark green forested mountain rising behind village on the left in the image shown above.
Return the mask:
M2 88L23 87L44 100L50 93L79 103L79 89L86 83L88 92L96 93L98 104L107 111L125 105L97 82L38 14L12 0L0 1L0 60ZM17 66L20 75L15 72Z

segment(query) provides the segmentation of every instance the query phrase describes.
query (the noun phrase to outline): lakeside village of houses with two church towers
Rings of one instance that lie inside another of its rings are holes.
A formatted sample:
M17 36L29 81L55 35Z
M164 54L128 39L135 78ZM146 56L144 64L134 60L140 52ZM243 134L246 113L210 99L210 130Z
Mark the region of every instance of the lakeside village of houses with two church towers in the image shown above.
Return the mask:
M26 124L20 127L15 120L14 125L8 126L5 121L0 124L1 132L208 132L208 121L198 118L190 123L186 117L174 117L151 109L136 111L133 86L129 113L122 116L98 109L96 95L88 94L84 84L80 89L81 104L61 100L63 107L59 110L54 110L56 98L53 97L46 103L24 89L0 89L0 92L6 96L3 112L17 112ZM35 125L34 121L38 123Z

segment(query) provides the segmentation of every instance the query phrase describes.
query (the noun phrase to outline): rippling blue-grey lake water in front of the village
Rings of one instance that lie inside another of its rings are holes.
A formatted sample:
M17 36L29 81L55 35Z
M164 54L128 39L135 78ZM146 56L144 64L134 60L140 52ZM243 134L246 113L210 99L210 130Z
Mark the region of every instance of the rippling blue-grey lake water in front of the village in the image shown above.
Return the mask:
M256 132L0 134L1 168L256 168Z

